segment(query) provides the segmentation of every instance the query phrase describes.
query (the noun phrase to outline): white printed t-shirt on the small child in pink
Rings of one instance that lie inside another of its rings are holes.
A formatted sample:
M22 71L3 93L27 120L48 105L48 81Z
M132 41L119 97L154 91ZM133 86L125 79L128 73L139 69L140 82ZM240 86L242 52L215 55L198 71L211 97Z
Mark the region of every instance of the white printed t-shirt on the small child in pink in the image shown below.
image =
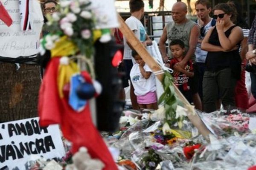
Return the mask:
M144 65L144 70L147 72L152 72L148 65ZM134 94L136 96L143 96L148 92L156 91L156 79L153 73L151 73L148 79L145 79L140 73L139 64L134 64L130 72L131 83L134 86Z

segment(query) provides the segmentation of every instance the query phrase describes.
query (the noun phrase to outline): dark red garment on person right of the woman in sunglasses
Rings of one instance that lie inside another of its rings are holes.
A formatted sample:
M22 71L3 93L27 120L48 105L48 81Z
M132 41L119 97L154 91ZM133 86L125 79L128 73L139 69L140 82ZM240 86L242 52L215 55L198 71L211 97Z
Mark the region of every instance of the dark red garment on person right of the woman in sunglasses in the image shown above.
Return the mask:
M245 60L246 63L246 60ZM242 67L245 67L245 63L243 61ZM236 83L235 89L235 101L236 107L246 110L249 106L248 93L245 86L245 70L241 71L241 79L239 79Z

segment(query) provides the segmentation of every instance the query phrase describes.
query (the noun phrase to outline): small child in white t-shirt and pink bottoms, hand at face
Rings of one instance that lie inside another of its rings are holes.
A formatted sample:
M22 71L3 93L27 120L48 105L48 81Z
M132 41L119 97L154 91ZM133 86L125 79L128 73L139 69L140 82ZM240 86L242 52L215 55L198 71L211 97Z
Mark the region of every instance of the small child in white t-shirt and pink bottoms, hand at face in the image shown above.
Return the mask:
M138 105L140 108L157 109L157 86L154 74L136 51L133 50L131 55L136 64L131 68L130 77Z

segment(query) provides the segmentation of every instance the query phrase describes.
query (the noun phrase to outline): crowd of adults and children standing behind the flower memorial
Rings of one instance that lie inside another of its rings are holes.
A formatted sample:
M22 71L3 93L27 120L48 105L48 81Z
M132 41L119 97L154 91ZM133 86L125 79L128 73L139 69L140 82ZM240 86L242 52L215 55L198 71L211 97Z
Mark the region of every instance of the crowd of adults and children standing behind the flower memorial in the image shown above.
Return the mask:
M130 0L131 16L125 23L144 46L152 44L141 19L143 0ZM44 15L57 11L57 3L47 0ZM248 108L245 70L250 71L251 92L256 98L256 19L249 29L241 17L240 6L230 0L213 8L208 0L195 3L196 22L186 17L187 6L172 6L172 21L163 28L159 50L166 66L173 70L174 83L195 108L205 112L220 109ZM212 14L211 14L212 13ZM212 16L212 17L210 17ZM130 84L133 109L157 108L154 74L116 28L117 42L124 45L123 87ZM166 42L168 48L166 48ZM124 98L124 91L121 95Z

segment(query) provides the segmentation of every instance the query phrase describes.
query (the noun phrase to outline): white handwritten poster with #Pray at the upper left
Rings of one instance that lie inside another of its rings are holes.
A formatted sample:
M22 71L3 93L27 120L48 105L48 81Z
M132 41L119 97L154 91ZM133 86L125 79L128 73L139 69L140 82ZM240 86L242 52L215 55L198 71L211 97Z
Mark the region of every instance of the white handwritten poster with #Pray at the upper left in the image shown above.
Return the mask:
M29 31L21 31L19 0L0 1L13 20L10 27L0 20L0 56L17 58L37 54L44 20L38 0L29 0Z

